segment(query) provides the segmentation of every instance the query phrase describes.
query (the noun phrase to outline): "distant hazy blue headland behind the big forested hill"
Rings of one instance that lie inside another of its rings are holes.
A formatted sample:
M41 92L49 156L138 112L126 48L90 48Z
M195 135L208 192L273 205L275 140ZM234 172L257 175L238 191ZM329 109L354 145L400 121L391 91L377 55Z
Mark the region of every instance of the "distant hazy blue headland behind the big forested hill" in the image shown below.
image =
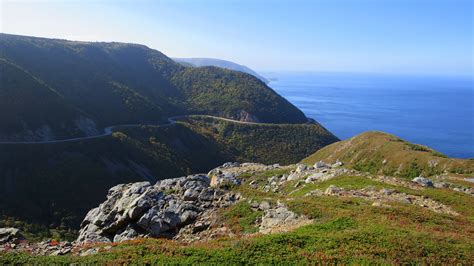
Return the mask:
M222 59L215 59L215 58L172 58L174 61L182 64L183 66L187 67L205 67L205 66L215 66L220 68L226 68L230 70L240 71L247 74L250 74L254 77L257 77L261 81L265 83L269 83L270 81L257 72L253 71L247 66L239 65L234 62L222 60Z

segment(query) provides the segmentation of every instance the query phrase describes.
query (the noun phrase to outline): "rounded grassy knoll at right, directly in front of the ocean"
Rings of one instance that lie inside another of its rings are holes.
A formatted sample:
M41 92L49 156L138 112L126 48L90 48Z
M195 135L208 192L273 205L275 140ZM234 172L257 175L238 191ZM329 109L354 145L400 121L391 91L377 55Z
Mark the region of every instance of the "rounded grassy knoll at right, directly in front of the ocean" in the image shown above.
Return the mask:
M382 132L365 132L333 143L302 162L312 165L320 160L328 163L340 160L360 171L406 178L444 172L474 173L474 160L447 158L426 146L412 144ZM430 166L430 161L436 165Z

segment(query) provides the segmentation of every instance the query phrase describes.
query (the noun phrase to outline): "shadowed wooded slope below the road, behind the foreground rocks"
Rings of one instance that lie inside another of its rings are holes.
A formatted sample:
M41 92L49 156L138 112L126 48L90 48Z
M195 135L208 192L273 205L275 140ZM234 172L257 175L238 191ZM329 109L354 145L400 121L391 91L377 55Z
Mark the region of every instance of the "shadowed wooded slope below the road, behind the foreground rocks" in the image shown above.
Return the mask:
M335 141L328 132L321 138L324 132L316 125L205 121L124 128L81 142L1 146L0 215L16 217L3 217L10 220L3 225L29 221L34 225L16 226L39 237L47 232L36 225L67 231L77 228L115 184L207 172L226 161L295 163ZM222 131L213 133L215 126Z

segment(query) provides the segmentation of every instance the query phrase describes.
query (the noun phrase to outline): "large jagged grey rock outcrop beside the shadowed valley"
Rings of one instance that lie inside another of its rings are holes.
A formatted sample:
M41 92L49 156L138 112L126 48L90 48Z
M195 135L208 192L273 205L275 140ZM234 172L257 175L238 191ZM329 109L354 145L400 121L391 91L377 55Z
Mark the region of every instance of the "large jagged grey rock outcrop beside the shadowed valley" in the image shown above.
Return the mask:
M233 204L239 195L210 187L199 174L117 185L107 200L92 209L81 224L78 242L123 241L136 237L174 237L203 214ZM192 231L192 230L191 230Z

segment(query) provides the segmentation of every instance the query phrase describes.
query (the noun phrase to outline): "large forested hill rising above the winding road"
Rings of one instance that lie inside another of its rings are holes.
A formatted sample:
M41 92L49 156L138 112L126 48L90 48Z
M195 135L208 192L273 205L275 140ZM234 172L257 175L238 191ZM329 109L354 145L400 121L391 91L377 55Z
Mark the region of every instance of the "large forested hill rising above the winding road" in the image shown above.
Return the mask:
M74 42L0 34L3 71L16 66L54 91L56 101L83 114L97 128L118 124L157 124L174 115L199 113L272 123L305 123L305 115L257 78L216 67L186 68L159 51L127 43ZM7 74L7 73L5 73ZM28 101L27 88L8 73L2 79L1 106L15 93ZM16 73L15 75L17 75ZM236 101L235 99L238 99ZM12 107L13 108L13 107ZM21 104L9 113L41 113L38 105ZM63 113L52 105L51 113ZM68 112L65 112L68 113ZM51 136L81 136L69 128L69 117L41 121ZM3 123L3 121L0 121ZM24 117L21 132L0 131L7 139L31 138L27 129L39 123ZM66 127L65 130L59 130ZM15 132L15 134L11 134Z

